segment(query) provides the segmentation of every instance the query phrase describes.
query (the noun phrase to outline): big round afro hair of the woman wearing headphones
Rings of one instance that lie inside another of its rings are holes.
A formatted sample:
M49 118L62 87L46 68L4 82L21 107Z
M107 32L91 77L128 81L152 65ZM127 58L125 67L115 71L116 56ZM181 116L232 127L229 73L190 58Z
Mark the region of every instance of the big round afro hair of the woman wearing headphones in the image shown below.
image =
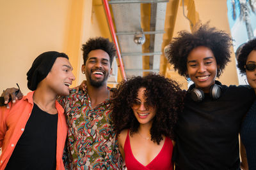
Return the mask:
M227 62L230 61L232 43L233 39L226 32L218 31L215 27L205 24L193 33L178 32L177 38L170 42L169 48L166 50L166 57L170 64L173 64L175 71L178 70L181 76L188 77L186 72L189 53L197 46L206 46L212 50L217 65L220 66L217 73L217 77L219 77Z

